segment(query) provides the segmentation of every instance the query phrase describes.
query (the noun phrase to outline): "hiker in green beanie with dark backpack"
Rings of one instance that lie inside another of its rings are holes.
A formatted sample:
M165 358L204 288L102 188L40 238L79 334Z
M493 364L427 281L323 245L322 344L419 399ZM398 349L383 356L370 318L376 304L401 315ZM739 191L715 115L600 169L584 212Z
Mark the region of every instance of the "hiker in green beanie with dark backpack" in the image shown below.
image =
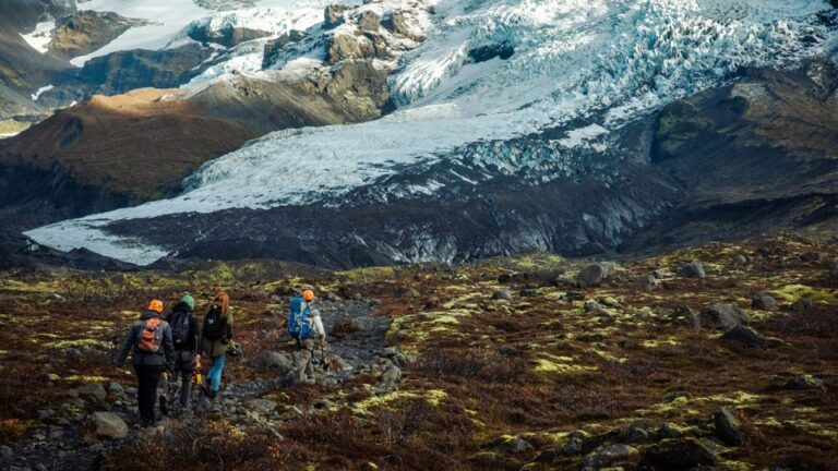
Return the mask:
M171 365L171 382L177 382L180 375L180 408L189 406L192 394L192 374L195 362L200 361L199 339L200 328L197 317L193 314L195 299L190 294L183 295L172 307L166 321L171 327L171 340L175 345L175 363Z

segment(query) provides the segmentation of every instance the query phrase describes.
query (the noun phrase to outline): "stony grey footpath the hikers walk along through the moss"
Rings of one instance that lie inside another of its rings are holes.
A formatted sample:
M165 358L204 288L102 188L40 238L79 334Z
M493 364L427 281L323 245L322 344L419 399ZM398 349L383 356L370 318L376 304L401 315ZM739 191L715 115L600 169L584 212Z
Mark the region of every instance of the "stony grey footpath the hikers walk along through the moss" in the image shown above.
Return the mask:
M391 324L387 317L376 316L376 302L337 301L333 295L319 305L328 335L328 347L321 351L315 367L315 382L320 386L342 390L343 384L363 374L380 377L379 392L397 387L396 381L385 376L388 373L400 376L400 365L407 357L393 348L386 348L385 335ZM82 470L99 469L106 456L125 443L148 439L155 434L161 438L177 421L182 427L201 427L207 420L240 422L270 431L282 439L276 431L279 423L294 421L309 409L333 408L324 395L307 398L303 403L285 403L286 412L278 410L277 391L295 386L294 341L285 333L285 324L277 319L276 330L267 331L277 337L278 351L263 351L228 359L225 384L215 400L210 400L197 388L187 409L172 404L178 389L167 390L161 381L159 392L169 399L170 416L160 415L155 428L137 424L136 388L128 386L134 382L85 384L65 391L65 401L55 409L38 412L45 425L32 436L32 440L3 445L0 449L0 469L26 470ZM231 360L231 361L230 361ZM387 367L391 370L387 371ZM266 377L236 383L229 381L229 372L247 369L267 373ZM204 373L206 365L203 367ZM280 392L282 394L282 392ZM285 395L284 397L288 397ZM95 411L86 416L81 411Z

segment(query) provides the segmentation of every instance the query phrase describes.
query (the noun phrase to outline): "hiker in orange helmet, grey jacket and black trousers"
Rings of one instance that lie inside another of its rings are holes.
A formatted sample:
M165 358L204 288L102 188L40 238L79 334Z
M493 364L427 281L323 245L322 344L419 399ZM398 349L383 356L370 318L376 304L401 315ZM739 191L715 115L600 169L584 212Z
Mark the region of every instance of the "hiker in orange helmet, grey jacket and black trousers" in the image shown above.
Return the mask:
M122 367L133 349L131 363L136 373L140 386L136 399L140 404L140 420L149 426L157 422L154 406L157 402L157 385L160 382L164 364L172 364L175 348L171 343L171 328L163 319L163 302L153 300L148 310L140 316L140 321L131 326L122 345L116 365Z

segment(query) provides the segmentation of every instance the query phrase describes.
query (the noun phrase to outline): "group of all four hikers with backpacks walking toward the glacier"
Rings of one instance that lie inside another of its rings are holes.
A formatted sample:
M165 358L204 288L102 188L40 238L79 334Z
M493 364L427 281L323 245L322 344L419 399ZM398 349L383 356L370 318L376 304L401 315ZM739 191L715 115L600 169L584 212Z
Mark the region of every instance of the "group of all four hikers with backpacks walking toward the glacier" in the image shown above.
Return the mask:
M193 385L214 400L222 387L227 357L241 354L241 347L232 340L227 293L215 295L202 323L194 310L195 299L185 294L164 317L163 301L153 300L125 335L116 365L121 369L131 354L139 383L136 395L142 425L156 424L158 402L160 412L169 414L168 394L159 395L160 386L164 391L179 390L179 411L190 407ZM314 305L314 291L307 289L301 297L291 298L287 323L298 350L296 379L313 384L314 352L326 345L323 321ZM206 381L203 381L202 359L210 362Z

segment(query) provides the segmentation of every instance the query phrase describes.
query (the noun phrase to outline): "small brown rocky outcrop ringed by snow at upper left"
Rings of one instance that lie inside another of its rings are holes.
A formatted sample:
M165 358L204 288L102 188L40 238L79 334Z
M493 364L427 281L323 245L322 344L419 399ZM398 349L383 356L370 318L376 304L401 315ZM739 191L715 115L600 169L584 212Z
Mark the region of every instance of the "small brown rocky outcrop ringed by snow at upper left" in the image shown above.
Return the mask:
M145 24L111 12L80 11L56 23L49 53L69 60L103 48L128 29Z

